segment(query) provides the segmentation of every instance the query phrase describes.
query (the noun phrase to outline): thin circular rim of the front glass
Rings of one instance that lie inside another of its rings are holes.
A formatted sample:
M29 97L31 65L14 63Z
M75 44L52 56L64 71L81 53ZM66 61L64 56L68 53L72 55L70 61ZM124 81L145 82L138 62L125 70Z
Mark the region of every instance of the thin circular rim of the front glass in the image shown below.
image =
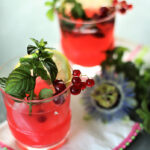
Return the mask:
M8 60L7 62L3 63L2 65L0 65L0 71L7 65L9 64L11 61L15 60L16 58L20 58L20 56L16 56L10 60ZM72 70L72 68L71 68ZM19 101L19 102L25 102L25 103L41 103L41 102L49 102L49 101L52 101L54 98L56 97L59 97L60 95L63 95L65 92L67 92L72 83L71 83L71 80L67 81L68 83L68 86L66 87L65 90L63 90L62 92L58 93L57 95L54 95L52 97L49 97L49 98L45 98L45 99L36 99L36 100L25 100L25 99L19 99L19 98L16 98L16 97L13 97L11 96L10 94L6 93L4 91L4 89L0 86L0 92L2 92L2 94L6 95L7 97L9 97L10 99L14 100L14 101Z

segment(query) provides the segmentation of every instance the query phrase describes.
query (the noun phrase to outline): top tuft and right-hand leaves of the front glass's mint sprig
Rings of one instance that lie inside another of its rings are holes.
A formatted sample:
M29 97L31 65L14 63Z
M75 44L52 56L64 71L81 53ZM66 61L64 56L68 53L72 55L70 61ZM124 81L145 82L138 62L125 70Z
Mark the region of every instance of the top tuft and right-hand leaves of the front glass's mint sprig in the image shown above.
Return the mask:
M29 49L28 46L28 54L34 54L34 58L28 59L26 60L26 62L28 61L28 63L33 64L33 66L36 66L35 73L40 75L44 80L50 77L51 81L53 82L56 79L58 73L57 66L52 59L53 53L46 51L47 42L43 39L40 42L33 38L31 40L35 43L36 49L32 49L31 51L31 49ZM31 46L34 47L33 45L30 45L30 47ZM47 69L49 74L45 72L45 68Z

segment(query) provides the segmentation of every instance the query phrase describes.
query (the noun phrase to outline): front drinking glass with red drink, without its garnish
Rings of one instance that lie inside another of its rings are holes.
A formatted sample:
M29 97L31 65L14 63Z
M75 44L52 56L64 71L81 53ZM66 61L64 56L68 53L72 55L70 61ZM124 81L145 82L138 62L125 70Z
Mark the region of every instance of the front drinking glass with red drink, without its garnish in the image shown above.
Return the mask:
M10 61L1 67L0 75L8 76L15 62ZM51 150L65 143L71 121L69 86L63 92L43 100L18 99L1 88L8 125L20 148Z

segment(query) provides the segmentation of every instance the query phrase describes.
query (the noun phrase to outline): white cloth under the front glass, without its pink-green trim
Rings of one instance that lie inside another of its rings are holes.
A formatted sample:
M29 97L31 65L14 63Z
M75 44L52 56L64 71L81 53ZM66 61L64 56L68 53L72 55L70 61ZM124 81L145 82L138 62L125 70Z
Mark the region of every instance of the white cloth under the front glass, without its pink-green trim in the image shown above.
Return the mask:
M118 121L103 124L101 121L85 121L80 96L72 97L72 126L68 142L60 150L112 150L129 134L133 122ZM0 127L0 141L18 150L7 124ZM40 149L42 150L42 149Z

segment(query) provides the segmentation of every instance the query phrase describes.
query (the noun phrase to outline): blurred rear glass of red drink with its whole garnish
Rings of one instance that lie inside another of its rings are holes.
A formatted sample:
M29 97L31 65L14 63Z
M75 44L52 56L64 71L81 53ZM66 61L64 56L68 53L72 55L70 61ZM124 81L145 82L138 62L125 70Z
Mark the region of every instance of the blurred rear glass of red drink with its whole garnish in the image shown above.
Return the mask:
M96 66L114 49L116 11L124 14L132 5L118 0L53 0L47 16L58 14L61 46L70 61L82 66Z

